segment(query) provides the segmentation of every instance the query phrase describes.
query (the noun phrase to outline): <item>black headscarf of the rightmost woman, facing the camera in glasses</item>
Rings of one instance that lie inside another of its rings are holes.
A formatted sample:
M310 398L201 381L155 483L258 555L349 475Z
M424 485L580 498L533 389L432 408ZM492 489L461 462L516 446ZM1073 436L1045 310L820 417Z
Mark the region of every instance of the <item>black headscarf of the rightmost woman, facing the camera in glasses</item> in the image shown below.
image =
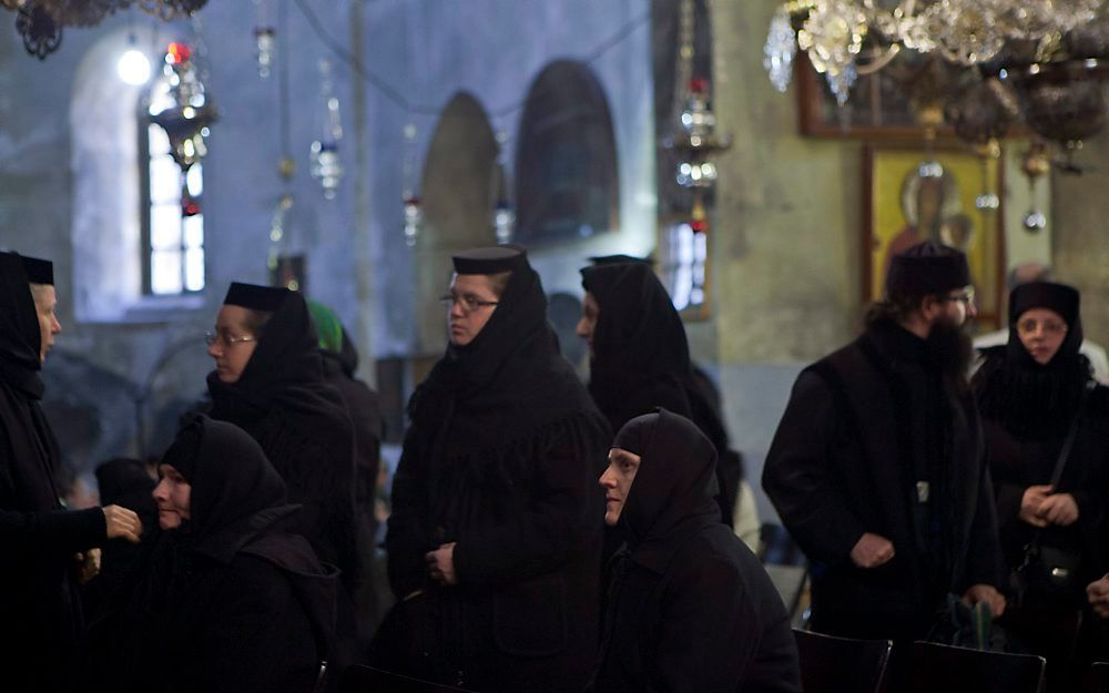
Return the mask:
M1067 324L1067 335L1047 364L1036 363L1017 332L1020 316L1032 308L1052 310ZM1080 294L1076 288L1031 282L1013 289L1009 340L1004 347L986 350L986 360L974 377L983 416L1021 436L1055 434L1069 427L1092 378L1089 359L1079 351L1081 346Z

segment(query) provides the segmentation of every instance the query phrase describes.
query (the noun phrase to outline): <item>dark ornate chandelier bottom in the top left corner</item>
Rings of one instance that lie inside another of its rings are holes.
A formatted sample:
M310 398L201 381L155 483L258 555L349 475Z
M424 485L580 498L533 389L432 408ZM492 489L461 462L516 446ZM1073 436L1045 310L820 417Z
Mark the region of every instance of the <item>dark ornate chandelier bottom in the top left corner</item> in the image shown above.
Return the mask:
M163 21L187 17L207 0L0 0L17 12L16 29L27 52L44 60L62 42L63 27L91 27L105 17L136 7Z

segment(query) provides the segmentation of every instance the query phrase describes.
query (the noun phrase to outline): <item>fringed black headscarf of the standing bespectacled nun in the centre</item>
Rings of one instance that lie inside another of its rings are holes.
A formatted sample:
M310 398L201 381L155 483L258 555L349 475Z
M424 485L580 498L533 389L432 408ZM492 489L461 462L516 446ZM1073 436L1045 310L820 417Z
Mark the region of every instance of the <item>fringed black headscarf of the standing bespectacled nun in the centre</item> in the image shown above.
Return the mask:
M559 353L539 275L526 256L515 266L489 322L469 344L448 344L408 404L417 429L440 431L458 453L507 447L592 410Z

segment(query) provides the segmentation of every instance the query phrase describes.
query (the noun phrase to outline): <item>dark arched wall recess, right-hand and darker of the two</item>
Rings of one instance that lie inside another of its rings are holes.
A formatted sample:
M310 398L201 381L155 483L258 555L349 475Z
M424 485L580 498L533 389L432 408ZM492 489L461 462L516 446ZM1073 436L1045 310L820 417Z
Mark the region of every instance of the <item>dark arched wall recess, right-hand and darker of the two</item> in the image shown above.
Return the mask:
M516 238L525 245L615 228L620 181L604 90L590 69L560 60L536 78L516 150Z

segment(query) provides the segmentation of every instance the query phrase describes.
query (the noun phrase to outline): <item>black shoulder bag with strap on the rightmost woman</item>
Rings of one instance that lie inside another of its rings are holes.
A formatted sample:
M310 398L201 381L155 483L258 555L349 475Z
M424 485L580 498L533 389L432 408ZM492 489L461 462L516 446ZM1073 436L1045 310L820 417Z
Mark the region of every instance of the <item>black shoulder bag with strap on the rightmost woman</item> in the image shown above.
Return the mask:
M1058 488L1059 480L1062 479L1062 470L1075 446L1075 437L1078 435L1082 412L1086 410L1086 397L1089 391L1090 388L1087 387L1082 393L1078 412L1070 424L1067 438L1062 441L1059 459L1051 472L1052 488ZM1020 607L1029 597L1049 602L1072 602L1075 594L1081 592L1082 585L1079 584L1081 565L1080 552L1054 547L1045 540L1044 529L1036 530L1025 546L1024 560L1009 574L1009 585L1013 588L1016 605Z

